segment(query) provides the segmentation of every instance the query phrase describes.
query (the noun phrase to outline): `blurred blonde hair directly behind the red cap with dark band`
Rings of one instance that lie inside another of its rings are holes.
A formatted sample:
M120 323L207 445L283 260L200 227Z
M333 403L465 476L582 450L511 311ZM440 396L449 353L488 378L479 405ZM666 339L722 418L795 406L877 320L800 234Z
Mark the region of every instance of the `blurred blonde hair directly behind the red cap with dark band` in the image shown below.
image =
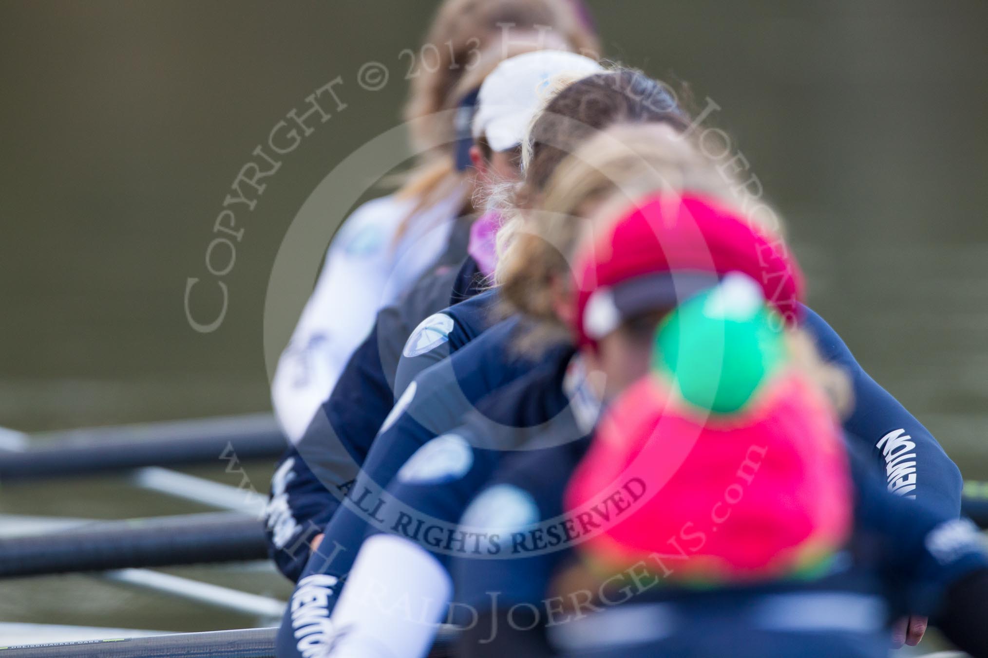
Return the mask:
M586 229L614 217L644 194L660 189L709 194L736 209L747 197L723 176L675 123L622 124L595 135L551 173L534 207L522 209L498 236L496 280L502 310L535 320L525 348L569 331L553 307L556 281L567 282L567 257ZM594 204L592 217L588 205Z

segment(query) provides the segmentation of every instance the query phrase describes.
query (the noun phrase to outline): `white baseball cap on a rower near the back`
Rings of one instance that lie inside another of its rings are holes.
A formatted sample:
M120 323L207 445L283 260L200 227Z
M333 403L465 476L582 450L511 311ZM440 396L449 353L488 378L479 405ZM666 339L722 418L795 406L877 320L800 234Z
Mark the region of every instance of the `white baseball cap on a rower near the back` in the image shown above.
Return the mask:
M590 57L565 50L535 50L505 59L480 85L473 138L485 138L494 151L515 148L552 90L553 78L580 78L603 70Z

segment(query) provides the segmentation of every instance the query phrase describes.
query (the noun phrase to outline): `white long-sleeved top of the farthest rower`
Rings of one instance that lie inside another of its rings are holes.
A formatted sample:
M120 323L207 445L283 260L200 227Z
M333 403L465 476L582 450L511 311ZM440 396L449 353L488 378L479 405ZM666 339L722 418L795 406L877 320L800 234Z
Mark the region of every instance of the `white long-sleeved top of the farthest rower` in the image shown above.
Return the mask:
M399 240L395 236L414 199L393 194L373 199L346 220L329 246L272 381L275 415L292 443L329 398L377 312L444 253L462 198L457 189L417 213Z

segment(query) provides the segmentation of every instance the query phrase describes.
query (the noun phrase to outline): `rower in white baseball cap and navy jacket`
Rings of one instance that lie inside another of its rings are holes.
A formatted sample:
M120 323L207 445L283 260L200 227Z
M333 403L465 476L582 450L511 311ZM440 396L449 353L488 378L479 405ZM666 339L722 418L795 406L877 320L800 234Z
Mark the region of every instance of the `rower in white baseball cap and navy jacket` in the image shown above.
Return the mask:
M599 63L583 55L535 47L498 44L491 52L481 53L478 64L471 67L470 79L483 80L486 91L464 99L461 110L467 120L457 141L456 164L475 169L480 187L518 177L520 144L541 106L546 80L602 70ZM522 54L508 57L480 78L484 68L490 68L488 60L496 62L518 52ZM471 123L469 110L474 109ZM378 313L371 333L350 357L329 399L279 462L272 478L266 528L269 552L288 578L297 578L310 544L317 544L313 539L336 510L405 387L418 372L489 326L484 299L454 311L444 309L475 295L491 274L489 240L498 222L496 213L477 219L469 228L468 244L466 239L462 246L458 240L451 241L450 253L456 260L468 252L458 267L441 263L399 304Z

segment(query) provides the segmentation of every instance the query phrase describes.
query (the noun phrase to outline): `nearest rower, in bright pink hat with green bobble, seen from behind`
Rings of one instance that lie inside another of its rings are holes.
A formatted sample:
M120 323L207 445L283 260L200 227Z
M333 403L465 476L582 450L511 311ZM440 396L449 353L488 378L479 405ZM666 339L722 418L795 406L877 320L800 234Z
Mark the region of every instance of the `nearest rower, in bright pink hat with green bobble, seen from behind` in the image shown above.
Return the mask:
M458 560L476 617L457 655L877 657L888 621L917 611L988 655L977 529L888 492L857 455L849 471L826 367L729 287L663 322L656 373L589 453L519 455L471 503L464 526L530 546ZM553 531L565 542L539 554Z

